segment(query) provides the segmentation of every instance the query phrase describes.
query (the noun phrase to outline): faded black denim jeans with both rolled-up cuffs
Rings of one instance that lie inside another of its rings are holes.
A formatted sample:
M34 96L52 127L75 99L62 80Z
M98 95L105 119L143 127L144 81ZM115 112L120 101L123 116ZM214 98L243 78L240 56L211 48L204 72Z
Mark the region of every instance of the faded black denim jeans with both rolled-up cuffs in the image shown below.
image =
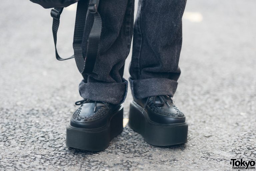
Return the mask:
M133 97L173 96L180 76L178 63L185 5L186 0L139 0L134 23L134 0L101 0L99 54L93 73L85 75L79 85L80 95L94 101L124 102L128 88L123 78L124 64L133 36L129 69ZM84 54L93 23L91 14L86 22Z

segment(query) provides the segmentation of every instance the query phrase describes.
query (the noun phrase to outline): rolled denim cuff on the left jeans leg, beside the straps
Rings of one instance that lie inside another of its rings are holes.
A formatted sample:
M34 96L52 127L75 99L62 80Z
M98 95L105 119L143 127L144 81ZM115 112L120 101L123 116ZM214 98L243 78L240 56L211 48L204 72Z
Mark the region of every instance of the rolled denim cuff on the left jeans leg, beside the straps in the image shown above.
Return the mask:
M103 101L112 104L124 102L128 89L128 81L122 83L86 83L84 80L79 84L80 96L93 101Z

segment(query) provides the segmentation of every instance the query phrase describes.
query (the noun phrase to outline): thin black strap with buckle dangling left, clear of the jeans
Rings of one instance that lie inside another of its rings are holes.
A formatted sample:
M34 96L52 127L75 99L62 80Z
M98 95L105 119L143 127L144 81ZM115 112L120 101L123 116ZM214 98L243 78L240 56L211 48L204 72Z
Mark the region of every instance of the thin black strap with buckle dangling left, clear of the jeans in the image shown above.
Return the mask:
M71 59L74 58L74 55L70 56L69 58L61 58L58 54L57 51L57 32L58 32L58 28L60 25L60 15L63 11L63 8L54 8L51 10L51 16L53 18L53 22L52 22L52 34L53 34L53 40L54 40L54 46L55 46L55 55L56 55L56 59L58 59L59 61L64 61L67 59Z

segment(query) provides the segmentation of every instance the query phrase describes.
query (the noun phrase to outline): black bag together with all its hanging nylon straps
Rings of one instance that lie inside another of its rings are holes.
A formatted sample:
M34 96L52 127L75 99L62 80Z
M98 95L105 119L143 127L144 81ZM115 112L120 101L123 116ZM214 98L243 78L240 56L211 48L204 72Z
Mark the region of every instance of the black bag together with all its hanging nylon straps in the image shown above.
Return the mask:
M79 72L84 77L86 74L91 73L94 68L96 57L98 55L98 48L100 43L102 20L100 14L98 13L98 5L100 0L30 0L32 2L42 5L44 8L51 8L51 16L53 18L52 23L52 33L55 45L55 54L56 59L59 61L75 58L77 68ZM53 2L54 1L54 2ZM77 10L76 10L76 22L75 22L75 31L73 39L73 49L74 55L69 58L61 58L57 52L57 32L60 24L60 15L63 11L64 6L71 5L72 3L78 1ZM60 2L62 4L60 4ZM49 3L49 4L47 4ZM56 5L59 5L59 8L56 8ZM87 49L86 54L83 54L82 49L82 39L84 34L84 26L86 21L87 11L88 15L94 16L94 23L91 28L89 38L87 40ZM84 77L85 78L85 77Z

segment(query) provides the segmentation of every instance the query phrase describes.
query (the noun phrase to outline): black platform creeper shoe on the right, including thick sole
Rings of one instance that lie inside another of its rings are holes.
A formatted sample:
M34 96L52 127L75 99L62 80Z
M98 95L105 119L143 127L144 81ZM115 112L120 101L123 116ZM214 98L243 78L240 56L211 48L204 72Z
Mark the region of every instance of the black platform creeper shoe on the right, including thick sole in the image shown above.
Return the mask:
M186 143L188 124L185 121L185 115L167 95L134 99L130 104L130 128L141 134L151 145Z

